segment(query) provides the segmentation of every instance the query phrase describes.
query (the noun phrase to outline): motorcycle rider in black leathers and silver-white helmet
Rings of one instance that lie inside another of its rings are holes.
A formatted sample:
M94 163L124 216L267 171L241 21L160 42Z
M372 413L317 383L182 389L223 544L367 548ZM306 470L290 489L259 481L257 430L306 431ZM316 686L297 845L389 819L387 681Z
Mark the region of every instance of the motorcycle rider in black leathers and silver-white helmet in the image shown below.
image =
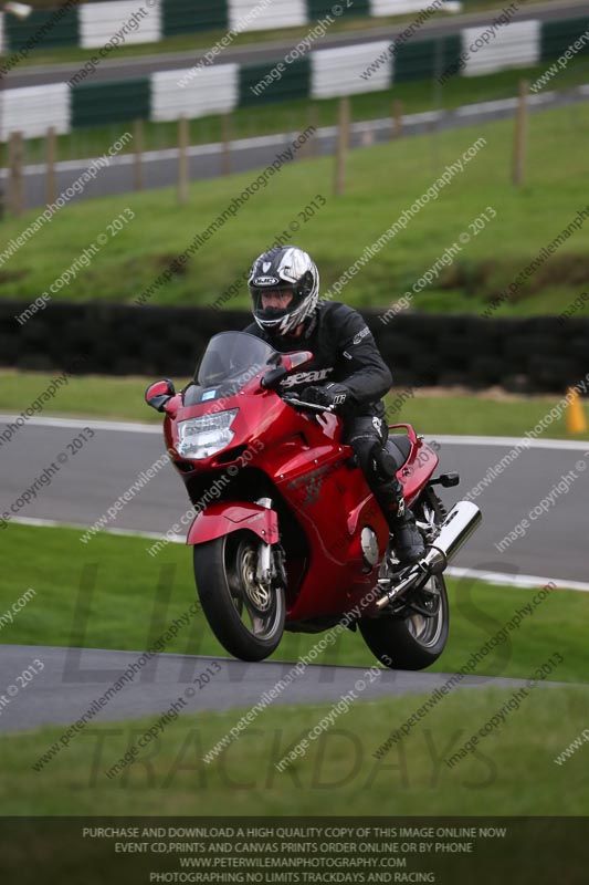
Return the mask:
M281 353L305 350L313 361L288 376L282 392L344 419L343 442L351 446L368 486L382 509L401 563L425 549L412 512L406 508L397 464L385 447L388 427L381 397L392 376L360 314L319 300L319 273L307 252L273 247L254 261L248 280L254 323L244 331Z

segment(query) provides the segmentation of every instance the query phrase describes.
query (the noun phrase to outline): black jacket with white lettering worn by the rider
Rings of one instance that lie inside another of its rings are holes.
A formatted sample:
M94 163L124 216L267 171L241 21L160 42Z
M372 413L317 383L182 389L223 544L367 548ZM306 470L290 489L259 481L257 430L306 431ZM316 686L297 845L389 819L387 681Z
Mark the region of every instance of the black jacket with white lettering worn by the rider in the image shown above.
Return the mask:
M389 391L392 376L358 311L337 301L319 301L298 337L272 336L255 322L244 331L263 339L281 353L313 353L311 363L282 383L284 393L301 395L309 385L337 382L344 384L350 394L346 418L360 415L383 417L385 407L380 400Z

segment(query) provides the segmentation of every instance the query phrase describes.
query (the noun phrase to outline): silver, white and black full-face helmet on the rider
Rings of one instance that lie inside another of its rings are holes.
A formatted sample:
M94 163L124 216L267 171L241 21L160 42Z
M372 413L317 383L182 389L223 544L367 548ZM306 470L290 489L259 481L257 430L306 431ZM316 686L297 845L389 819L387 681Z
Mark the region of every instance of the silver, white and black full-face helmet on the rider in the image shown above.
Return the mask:
M287 335L311 316L319 298L315 262L294 246L275 246L255 259L248 280L257 325L271 334ZM262 306L264 292L292 292L287 308Z

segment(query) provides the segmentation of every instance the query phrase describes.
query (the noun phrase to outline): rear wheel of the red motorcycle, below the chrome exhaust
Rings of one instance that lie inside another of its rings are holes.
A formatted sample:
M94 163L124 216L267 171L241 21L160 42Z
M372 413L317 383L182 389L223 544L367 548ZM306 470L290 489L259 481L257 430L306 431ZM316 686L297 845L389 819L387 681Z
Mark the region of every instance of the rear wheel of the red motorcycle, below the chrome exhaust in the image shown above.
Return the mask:
M430 667L442 654L450 627L450 607L444 579L430 577L418 592L416 602L433 616L408 610L399 615L360 621L364 641L386 667L397 670L421 670Z

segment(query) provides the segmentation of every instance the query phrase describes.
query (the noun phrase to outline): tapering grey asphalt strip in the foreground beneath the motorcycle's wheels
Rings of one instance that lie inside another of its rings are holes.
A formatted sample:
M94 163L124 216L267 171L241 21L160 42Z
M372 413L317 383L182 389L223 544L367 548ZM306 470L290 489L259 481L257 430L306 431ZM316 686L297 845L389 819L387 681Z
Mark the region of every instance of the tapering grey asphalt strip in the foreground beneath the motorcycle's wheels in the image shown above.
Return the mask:
M43 669L24 689L7 696L0 710L0 733L23 731L45 725L70 725L91 708L125 671L140 658L140 652L111 652L101 649L51 648L36 645L0 646L0 679L2 686L14 681L15 676L38 660ZM192 688L194 677L211 662L218 660L221 669L202 690ZM182 712L198 710L228 710L250 707L261 700L291 670L293 664L264 662L244 664L229 658L157 655L137 673L96 716L96 721L138 718L161 714L178 698ZM366 675L368 667L308 666L304 673L277 695L275 704L319 704L339 700L354 684ZM418 691L433 691L442 686L449 674L382 670L367 686L361 698L399 697ZM524 679L465 676L463 688L519 688ZM558 685L543 683L544 686ZM17 686L18 687L18 686ZM92 727L92 723L91 723Z

